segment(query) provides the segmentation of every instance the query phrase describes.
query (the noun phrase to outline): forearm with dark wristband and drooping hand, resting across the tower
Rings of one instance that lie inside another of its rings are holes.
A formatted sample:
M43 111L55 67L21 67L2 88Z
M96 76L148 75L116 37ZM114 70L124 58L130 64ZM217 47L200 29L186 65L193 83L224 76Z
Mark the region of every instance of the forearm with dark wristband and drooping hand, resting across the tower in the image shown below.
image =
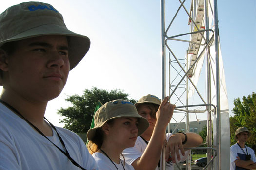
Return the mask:
M171 157L173 158L172 161L175 163L175 154L177 155L177 159L180 160L180 154L179 150L181 151L182 155L185 155L185 149L184 148L191 148L191 147L197 147L202 142L203 139L200 135L192 132L186 133L187 135L187 142L182 145L182 142L185 141L185 135L182 133L176 133L170 136L166 149L165 149L165 159L168 159L169 154L171 152Z

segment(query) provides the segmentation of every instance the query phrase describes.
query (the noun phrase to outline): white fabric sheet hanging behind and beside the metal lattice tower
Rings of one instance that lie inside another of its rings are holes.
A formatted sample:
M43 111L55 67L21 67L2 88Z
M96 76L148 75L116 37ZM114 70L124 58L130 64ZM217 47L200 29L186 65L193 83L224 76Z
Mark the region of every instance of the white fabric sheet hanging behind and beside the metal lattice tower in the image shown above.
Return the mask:
M208 19L209 19L209 28L214 30L214 5L213 0L209 0L208 3ZM212 37L213 33L210 32L210 36ZM219 40L220 42L220 40ZM211 63L211 103L216 105L216 65L215 65L215 42L212 43L210 47L210 63ZM202 47L200 47L202 50ZM198 52L200 54L200 51ZM188 59L190 59L188 56ZM197 85L200 72L203 66L204 57L198 61L197 65L193 70L194 74L192 76L192 81L195 85ZM219 82L220 82L220 128L221 128L221 169L222 170L229 170L229 164L227 162L230 161L230 128L229 128L229 107L228 107L228 96L227 96L227 88L226 88L226 81L225 81L225 73L224 73L224 66L222 61L221 55L221 48L219 43ZM188 98L191 98L194 95L195 88L192 84L190 84L188 89ZM214 136L214 144L216 144L216 115L212 115L213 120L213 136ZM217 170L216 159L214 161L214 170Z

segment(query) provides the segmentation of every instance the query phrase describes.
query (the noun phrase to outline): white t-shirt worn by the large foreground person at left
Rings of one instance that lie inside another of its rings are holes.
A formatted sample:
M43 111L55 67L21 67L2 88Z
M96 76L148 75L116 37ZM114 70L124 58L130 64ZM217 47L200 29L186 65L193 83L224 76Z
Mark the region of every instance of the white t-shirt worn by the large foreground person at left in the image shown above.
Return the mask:
M56 127L70 156L87 170L98 170L82 139L67 129ZM63 150L53 130L48 137ZM0 103L0 170L81 170L24 119Z

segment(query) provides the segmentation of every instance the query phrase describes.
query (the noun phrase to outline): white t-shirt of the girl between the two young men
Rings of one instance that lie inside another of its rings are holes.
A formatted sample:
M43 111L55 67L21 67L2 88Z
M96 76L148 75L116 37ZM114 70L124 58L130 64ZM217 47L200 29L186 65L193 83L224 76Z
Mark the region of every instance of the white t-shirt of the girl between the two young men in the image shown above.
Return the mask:
M134 170L133 166L124 163L122 156L121 156L121 162L119 164L116 164L115 162L113 162L117 168L115 167L115 165L109 160L109 158L99 152L93 153L93 157L98 165L99 170L123 170L123 166L125 170Z

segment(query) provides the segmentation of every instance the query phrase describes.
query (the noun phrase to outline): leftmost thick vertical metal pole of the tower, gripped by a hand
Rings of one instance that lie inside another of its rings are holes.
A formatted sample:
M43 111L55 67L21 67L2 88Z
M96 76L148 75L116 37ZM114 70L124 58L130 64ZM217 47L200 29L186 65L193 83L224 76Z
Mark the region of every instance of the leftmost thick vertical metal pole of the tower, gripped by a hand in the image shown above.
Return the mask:
M162 47L162 99L166 95L166 83L165 83L165 0L161 0L161 47ZM165 159L164 159L165 149L162 147L161 154L161 170L165 170Z

